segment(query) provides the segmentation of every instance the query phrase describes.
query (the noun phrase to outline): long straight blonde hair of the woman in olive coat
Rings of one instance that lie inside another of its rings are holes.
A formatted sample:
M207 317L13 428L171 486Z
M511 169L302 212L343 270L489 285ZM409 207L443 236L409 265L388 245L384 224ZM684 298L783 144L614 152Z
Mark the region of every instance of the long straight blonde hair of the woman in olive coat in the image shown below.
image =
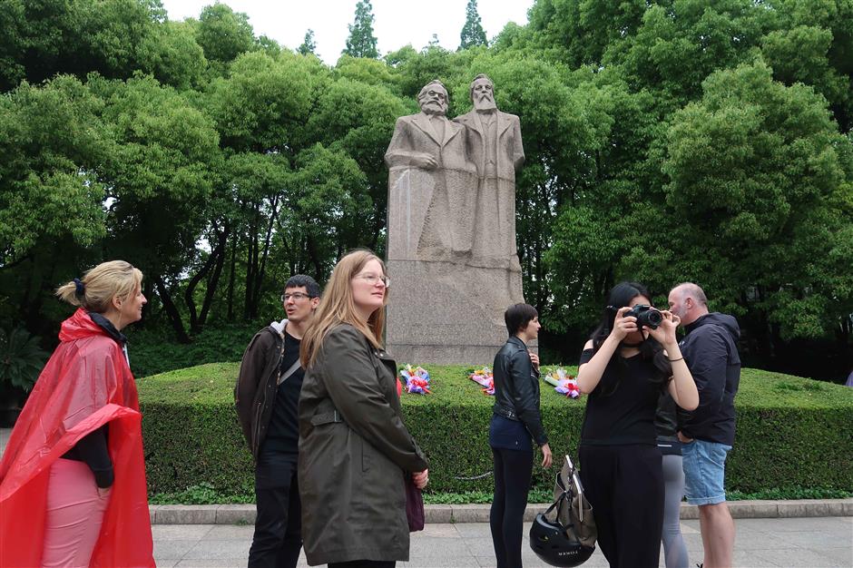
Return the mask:
M385 289L385 299L382 308L377 309L365 322L358 317L356 303L352 297L352 279L365 267L370 260L378 260L382 274L386 274L385 263L370 250L353 250L344 258L338 260L332 275L323 290L319 308L299 347L299 358L302 367L314 365L319 349L328 332L341 323L348 323L358 329L368 338L375 348L382 348L382 332L385 330L385 306L388 301L388 289Z

